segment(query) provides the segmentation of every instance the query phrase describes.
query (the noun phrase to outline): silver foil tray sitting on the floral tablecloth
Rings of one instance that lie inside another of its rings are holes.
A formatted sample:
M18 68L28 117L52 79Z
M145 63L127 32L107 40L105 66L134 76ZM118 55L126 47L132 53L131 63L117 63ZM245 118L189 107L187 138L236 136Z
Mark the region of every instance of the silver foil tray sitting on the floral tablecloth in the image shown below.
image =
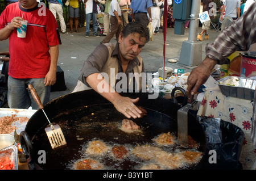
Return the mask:
M216 82L222 94L235 98L253 100L256 80L243 77L224 77Z

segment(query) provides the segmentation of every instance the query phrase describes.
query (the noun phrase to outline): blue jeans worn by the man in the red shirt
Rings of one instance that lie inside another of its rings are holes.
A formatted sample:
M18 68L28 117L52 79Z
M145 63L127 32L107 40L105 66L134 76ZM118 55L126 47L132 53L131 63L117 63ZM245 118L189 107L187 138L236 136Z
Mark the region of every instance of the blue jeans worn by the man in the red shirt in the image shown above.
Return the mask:
M43 105L49 102L51 86L44 86L44 78L18 79L9 76L7 100L10 108L27 109L31 106L32 110L39 109L30 90L27 90L28 84L35 88Z

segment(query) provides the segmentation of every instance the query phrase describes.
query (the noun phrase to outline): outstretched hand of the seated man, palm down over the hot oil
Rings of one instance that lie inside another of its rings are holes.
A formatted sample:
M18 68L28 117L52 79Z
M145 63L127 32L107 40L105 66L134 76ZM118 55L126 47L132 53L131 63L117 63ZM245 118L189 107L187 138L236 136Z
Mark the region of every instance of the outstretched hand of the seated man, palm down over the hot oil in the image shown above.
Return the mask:
M121 112L127 118L133 117L134 119L136 119L137 117L141 117L141 113L142 113L142 111L139 110L139 108L134 104L134 103L137 103L138 101L139 101L139 98L131 99L131 98L119 96L117 99L115 99L113 104L114 104L114 107L117 109L117 111Z

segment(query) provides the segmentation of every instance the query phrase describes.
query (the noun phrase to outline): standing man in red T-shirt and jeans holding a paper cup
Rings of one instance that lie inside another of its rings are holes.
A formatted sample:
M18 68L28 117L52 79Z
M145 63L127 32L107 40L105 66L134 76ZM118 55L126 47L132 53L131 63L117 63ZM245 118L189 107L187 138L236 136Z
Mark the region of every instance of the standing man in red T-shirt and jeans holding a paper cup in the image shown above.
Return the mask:
M27 27L22 24L24 20ZM18 37L22 31L26 31L26 37ZM0 40L8 38L9 107L38 109L27 85L34 86L43 104L49 101L61 44L56 19L36 0L19 0L7 6L0 16Z

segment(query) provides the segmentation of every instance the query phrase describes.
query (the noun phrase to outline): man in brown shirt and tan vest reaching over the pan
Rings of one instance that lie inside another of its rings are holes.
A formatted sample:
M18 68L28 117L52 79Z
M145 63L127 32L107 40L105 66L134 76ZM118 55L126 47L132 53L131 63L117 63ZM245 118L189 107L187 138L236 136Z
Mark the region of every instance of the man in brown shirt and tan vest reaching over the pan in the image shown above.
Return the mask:
M141 110L134 104L138 102L139 98L130 99L119 95L114 89L117 84L116 75L125 73L126 81L129 84L129 73L140 74L144 71L144 64L139 53L148 40L148 30L141 23L131 22L127 24L119 35L118 43L98 45L84 62L79 77L84 85L91 87L108 99L114 104L117 111L128 118L141 117ZM114 80L111 79L111 69L113 68ZM109 82L107 78L102 77L102 73L109 76Z

